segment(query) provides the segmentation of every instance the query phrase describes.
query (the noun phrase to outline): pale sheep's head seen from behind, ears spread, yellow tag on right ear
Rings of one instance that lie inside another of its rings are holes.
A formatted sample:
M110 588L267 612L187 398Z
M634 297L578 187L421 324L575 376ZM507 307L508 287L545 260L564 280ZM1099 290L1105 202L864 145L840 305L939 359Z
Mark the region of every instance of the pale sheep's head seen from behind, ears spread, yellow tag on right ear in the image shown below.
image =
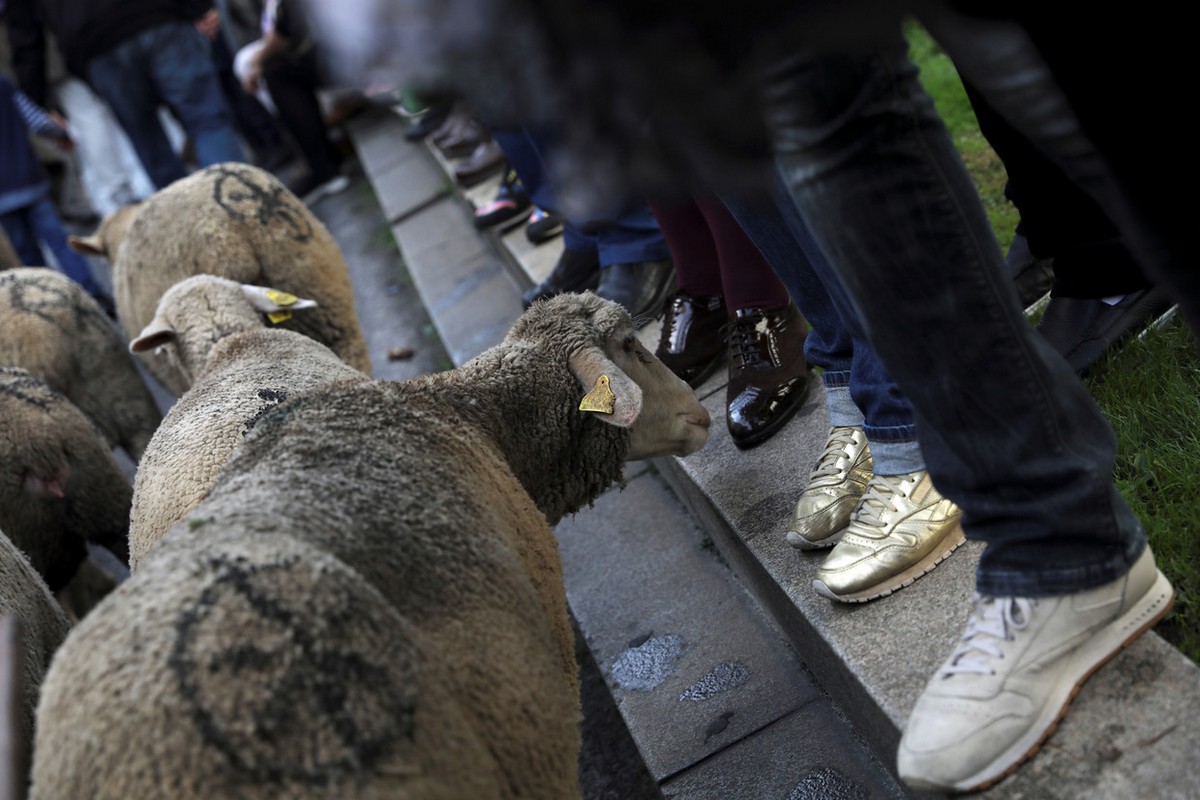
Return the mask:
M154 319L130 342L130 350L164 354L191 385L204 371L212 347L224 337L263 327L262 314L278 323L294 311L316 307L314 300L287 291L194 275L162 295Z

